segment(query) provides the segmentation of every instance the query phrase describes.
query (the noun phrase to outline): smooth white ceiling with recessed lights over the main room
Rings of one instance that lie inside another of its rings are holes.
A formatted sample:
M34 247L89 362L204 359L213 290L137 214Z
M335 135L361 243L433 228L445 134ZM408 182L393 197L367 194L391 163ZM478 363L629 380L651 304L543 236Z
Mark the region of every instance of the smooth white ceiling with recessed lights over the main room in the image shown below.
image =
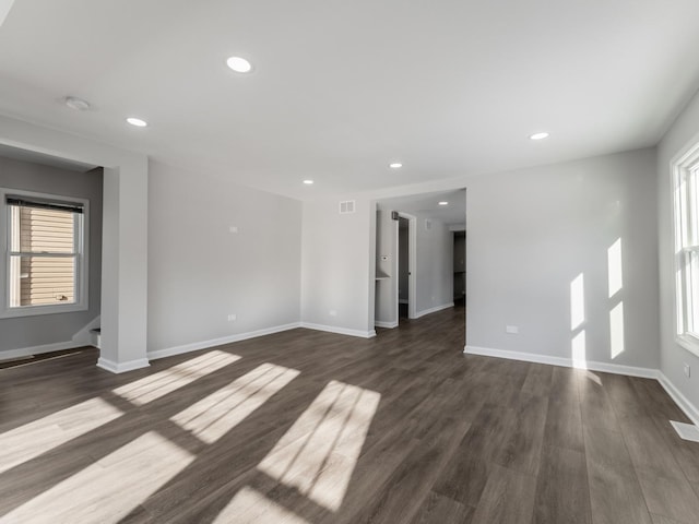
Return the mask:
M21 0L0 114L295 198L384 190L655 144L699 86L697 20L698 0Z

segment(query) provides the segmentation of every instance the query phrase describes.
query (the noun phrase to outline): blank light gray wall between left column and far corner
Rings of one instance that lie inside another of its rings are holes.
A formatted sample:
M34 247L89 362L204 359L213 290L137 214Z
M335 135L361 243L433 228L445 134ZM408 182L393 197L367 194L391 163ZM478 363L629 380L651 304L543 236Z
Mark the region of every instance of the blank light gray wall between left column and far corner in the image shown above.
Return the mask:
M300 231L297 200L151 162L149 354L297 324Z

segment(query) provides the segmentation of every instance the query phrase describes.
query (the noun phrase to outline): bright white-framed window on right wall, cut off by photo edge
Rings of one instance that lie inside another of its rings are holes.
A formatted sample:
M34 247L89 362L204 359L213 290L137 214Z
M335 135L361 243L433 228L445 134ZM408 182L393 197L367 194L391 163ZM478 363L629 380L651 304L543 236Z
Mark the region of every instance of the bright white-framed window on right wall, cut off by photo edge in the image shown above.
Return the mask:
M675 342L699 356L699 325L692 325L692 320L699 317L695 312L699 309L699 142L675 158L671 169Z

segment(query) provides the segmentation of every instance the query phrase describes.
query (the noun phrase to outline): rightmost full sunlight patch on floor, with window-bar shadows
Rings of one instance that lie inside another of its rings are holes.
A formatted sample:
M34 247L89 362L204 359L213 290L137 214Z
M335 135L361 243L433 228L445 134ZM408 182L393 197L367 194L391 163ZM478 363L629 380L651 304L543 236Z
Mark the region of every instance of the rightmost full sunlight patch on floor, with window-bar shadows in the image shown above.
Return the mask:
M381 395L331 381L258 469L337 511Z

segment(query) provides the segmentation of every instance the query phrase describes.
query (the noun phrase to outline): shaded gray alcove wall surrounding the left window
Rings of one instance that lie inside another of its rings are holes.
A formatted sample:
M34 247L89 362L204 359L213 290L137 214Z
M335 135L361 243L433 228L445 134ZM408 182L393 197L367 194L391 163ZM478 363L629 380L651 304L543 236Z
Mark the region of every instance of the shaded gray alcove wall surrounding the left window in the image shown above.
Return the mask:
M99 315L102 281L102 169L75 172L0 157L0 187L90 201L88 310L0 319L1 352L69 342ZM4 219L2 219L4 227ZM4 277L4 276L2 276Z

